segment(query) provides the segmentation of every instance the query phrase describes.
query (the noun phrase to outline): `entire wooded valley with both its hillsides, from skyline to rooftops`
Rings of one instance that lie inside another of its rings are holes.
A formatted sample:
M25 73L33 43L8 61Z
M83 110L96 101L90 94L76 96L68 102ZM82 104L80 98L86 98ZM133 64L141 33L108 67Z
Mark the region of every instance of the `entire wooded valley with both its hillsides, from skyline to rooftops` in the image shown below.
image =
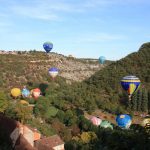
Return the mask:
M58 134L64 140L66 150L148 149L149 130L141 126L141 122L150 112L150 43L117 62L108 62L103 68L95 60L67 58L54 53L2 54L0 57L0 111L5 116L37 128L44 136ZM85 73L93 66L93 75L70 85L66 81L73 80L60 76L52 80L49 77L47 70L53 65L61 68L60 75L65 69L68 74L71 71ZM136 93L136 108L127 103L127 94L120 86L120 79L128 74L138 76L142 82ZM23 84L29 90L39 87L41 95L37 99L33 95L27 98L10 96L9 87ZM22 99L31 105L22 104ZM136 116L135 111L139 113ZM129 130L117 126L115 118L120 113L129 113L133 117ZM95 126L89 120L93 115L108 121L113 130ZM2 143L7 145L4 137L0 136L4 140Z

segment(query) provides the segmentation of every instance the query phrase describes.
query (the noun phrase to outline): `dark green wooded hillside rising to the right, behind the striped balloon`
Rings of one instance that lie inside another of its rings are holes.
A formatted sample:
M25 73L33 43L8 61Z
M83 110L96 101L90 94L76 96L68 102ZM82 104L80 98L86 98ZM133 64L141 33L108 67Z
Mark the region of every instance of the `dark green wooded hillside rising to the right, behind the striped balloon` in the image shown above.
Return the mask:
M111 113L127 113L128 97L120 85L120 80L126 75L139 77L142 83L141 94L148 93L150 90L150 43L143 44L138 52L111 63L89 79L75 85L73 92L70 92L74 93L71 97L77 106L90 112L98 107ZM146 99L148 99L148 94ZM149 105L148 102L147 105Z

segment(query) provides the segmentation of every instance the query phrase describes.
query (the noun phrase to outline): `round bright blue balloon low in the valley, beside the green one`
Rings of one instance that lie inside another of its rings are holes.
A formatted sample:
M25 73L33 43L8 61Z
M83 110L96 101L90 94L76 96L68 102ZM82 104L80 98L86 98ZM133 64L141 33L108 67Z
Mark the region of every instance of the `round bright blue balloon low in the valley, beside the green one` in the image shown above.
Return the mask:
M132 119L127 114L121 114L116 117L116 122L119 127L128 129L132 123Z

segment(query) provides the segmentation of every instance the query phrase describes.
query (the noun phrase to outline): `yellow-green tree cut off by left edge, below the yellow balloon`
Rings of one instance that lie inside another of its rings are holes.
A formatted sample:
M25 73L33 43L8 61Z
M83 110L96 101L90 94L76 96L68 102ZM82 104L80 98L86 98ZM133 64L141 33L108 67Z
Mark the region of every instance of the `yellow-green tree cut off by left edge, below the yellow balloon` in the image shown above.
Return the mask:
M4 92L0 91L0 112L4 113L8 107L8 100Z

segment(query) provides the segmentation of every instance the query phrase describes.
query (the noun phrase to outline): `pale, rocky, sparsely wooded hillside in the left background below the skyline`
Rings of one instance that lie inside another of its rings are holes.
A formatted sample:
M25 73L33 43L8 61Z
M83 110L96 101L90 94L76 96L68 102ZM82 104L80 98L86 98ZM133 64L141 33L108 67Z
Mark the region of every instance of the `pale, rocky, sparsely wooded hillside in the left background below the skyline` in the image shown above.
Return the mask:
M67 83L82 81L104 66L97 60L76 59L56 53L44 52L1 52L0 54L0 84L12 87L27 82L44 82L49 78L48 69L57 67L59 76Z

